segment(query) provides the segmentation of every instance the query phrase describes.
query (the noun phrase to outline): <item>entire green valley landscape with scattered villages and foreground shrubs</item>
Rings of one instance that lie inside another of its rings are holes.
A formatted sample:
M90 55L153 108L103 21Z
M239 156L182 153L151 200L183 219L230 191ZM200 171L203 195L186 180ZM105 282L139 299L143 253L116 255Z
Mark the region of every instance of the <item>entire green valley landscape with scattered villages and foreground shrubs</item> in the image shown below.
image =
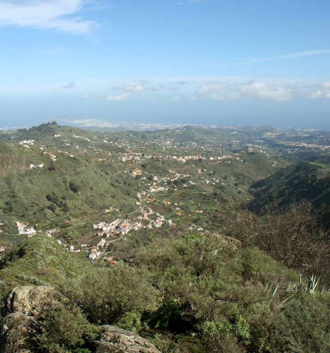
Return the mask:
M309 334L300 298L327 312L329 145L271 127L1 131L0 293L67 298L37 313L51 352L66 332L99 352L109 324L157 352L286 351Z

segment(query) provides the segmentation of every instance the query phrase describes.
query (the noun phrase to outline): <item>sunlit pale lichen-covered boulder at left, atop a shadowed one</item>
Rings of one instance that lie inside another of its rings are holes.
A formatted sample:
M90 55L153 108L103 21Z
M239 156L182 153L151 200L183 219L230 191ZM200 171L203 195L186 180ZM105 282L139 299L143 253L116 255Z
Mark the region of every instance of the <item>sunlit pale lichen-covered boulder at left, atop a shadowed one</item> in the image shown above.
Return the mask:
M38 316L43 311L58 304L65 297L54 287L21 286L14 288L5 300L3 313L22 312L26 315Z

